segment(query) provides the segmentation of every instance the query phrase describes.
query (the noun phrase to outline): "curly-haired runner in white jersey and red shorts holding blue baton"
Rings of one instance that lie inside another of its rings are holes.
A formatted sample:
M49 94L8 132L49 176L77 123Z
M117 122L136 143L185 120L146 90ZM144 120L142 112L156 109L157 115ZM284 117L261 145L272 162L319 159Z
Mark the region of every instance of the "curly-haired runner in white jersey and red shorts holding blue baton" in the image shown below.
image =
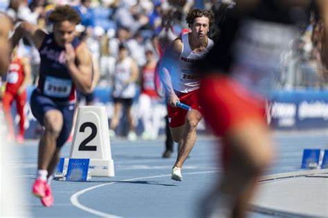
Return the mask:
M181 167L194 147L196 130L203 112L198 103L200 77L192 65L206 56L213 46L207 34L214 21L212 10L190 10L185 20L191 32L175 39L165 53L160 66L161 81L168 97L168 117L174 141L179 143L172 179L182 181ZM180 101L192 108L187 111L176 108Z

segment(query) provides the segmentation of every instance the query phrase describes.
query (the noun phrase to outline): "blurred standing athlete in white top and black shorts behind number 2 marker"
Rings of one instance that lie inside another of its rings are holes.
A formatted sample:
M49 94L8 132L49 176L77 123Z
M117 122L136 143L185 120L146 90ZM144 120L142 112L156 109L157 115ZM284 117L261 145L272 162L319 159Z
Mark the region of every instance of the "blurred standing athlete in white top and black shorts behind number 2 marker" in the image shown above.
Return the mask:
M136 95L137 79L138 65L134 59L129 56L127 48L120 45L118 61L115 66L114 86L112 91L114 112L109 126L110 137L115 137L116 127L120 123L120 114L121 112L125 112L125 117L127 117L127 121L129 122L129 133L127 138L129 141L134 141L137 139L136 132L134 130L134 119L131 114L133 99Z

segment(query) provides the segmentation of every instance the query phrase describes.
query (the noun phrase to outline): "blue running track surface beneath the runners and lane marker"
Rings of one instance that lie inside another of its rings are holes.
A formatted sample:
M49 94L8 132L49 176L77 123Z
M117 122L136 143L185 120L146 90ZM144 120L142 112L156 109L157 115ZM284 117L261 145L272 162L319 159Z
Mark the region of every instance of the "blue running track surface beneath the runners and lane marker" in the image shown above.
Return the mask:
M300 170L304 148L327 148L328 132L275 132L277 159L266 175ZM176 146L170 159L163 159L164 138L129 142L111 140L115 177L93 177L89 182L53 181L55 206L44 208L33 197L31 186L37 168L37 143L26 141L17 146L28 192L26 205L33 217L199 217L199 201L217 181L218 143L213 137L199 136L185 161L183 181L170 178L176 159ZM62 157L69 157L66 144ZM250 217L271 217L250 212Z

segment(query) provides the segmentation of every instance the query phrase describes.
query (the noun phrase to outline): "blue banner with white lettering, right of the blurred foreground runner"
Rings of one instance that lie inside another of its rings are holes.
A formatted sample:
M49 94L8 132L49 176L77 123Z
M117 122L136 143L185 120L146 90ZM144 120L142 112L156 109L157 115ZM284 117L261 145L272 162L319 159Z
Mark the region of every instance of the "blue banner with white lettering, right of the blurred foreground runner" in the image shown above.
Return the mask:
M268 121L275 129L328 128L328 90L275 91L268 110Z

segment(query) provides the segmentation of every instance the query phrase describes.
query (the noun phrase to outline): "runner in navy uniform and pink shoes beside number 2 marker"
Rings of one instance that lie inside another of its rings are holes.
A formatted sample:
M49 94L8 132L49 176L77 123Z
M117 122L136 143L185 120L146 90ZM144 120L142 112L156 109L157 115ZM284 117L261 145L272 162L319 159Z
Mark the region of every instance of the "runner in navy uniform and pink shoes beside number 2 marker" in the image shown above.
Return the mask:
M39 84L30 99L33 115L45 127L39 141L33 194L44 206L53 206L50 182L60 149L71 132L75 86L84 93L91 92L92 64L88 48L75 37L75 26L80 23L78 12L70 6L57 6L48 20L53 23L53 33L23 22L12 36L12 45L28 37L41 56Z

